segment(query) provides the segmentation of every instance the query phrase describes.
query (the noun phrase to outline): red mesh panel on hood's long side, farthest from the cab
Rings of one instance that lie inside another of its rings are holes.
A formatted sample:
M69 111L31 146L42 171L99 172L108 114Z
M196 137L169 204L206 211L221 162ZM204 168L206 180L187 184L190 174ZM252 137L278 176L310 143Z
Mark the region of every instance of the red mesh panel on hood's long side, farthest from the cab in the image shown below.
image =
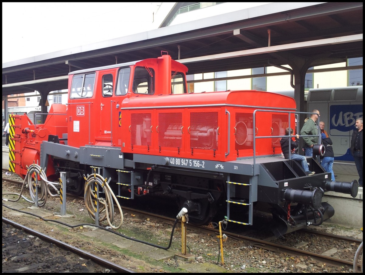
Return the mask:
M193 149L217 150L218 112L190 113L190 147Z

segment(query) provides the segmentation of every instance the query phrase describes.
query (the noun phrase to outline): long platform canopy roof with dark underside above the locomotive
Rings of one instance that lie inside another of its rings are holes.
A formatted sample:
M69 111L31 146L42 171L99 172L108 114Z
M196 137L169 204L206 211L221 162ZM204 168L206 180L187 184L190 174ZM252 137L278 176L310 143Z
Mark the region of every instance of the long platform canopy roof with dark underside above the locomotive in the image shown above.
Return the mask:
M179 3L171 14L184 4ZM3 95L66 89L71 71L158 57L162 51L187 65L188 74L285 65L293 57L308 60L310 67L362 57L362 5L269 3L3 63Z

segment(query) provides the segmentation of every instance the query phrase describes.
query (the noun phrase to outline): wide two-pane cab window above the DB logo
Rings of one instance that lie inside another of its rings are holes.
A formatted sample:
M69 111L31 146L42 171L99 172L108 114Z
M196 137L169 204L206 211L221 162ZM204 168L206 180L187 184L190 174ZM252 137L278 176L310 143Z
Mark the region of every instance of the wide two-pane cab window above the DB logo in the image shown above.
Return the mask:
M72 78L70 98L92 97L95 85L95 73L74 75Z

